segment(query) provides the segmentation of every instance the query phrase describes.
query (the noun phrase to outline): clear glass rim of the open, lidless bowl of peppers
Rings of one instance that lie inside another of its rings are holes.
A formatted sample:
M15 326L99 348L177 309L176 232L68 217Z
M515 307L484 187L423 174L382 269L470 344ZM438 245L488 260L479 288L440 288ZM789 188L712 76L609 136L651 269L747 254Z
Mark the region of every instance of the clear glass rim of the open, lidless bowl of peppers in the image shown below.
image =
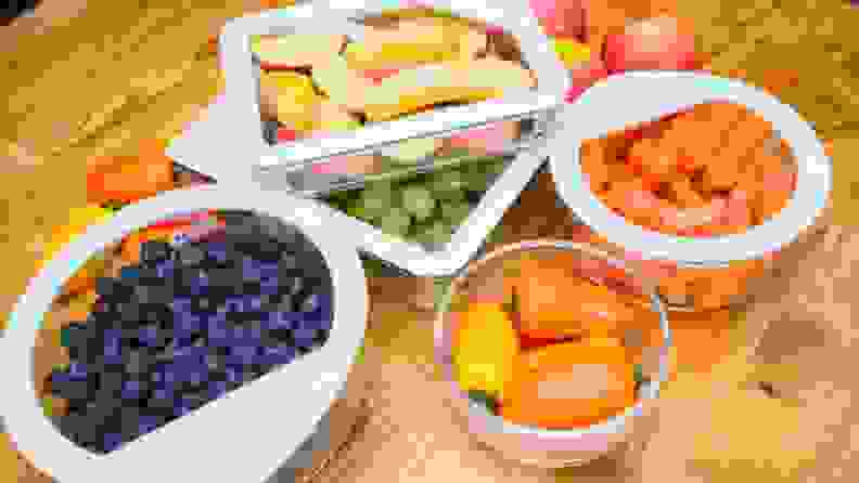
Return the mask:
M453 293L456 291L456 287L460 285L471 273L477 270L479 266L483 266L490 261L501 258L504 254L509 254L515 251L525 251L525 250L534 250L534 249L556 249L556 250L567 250L567 251L576 251L585 253L586 256L605 260L608 264L615 267L623 269L629 276L637 277L633 271L628 266L625 266L625 263L612 257L611 254L606 253L603 250L597 249L590 245L586 244L578 244L574 241L564 241L564 240L553 240L553 239L541 239L541 240L531 240L531 241L521 241L516 244L504 245L500 248L492 250L491 252L487 253L486 256L482 257L480 259L467 264L466 266L462 267L453 277L453 280L448 285L444 299L438 310L438 314L436 315L435 322L435 350L436 350L436 357L438 360L439 365L441 365L443 369L445 370L446 378L453 384L453 391L460 397L467 399L465 392L461 389L459 383L453 378L451 371L451 343L452 341L449 339L449 330L447 325L445 324L445 316L447 315L448 311L450 310L450 303L452 301ZM663 334L662 347L659 348L659 370L658 370L658 378L650 381L648 384L643 384L642 391L640 392L641 397L639 402L637 402L633 406L628 407L624 410L624 413L613 416L601 422L599 425L593 425L588 427L587 429L581 430L549 430L542 428L535 428L535 427L527 427L522 425L514 425L508 422L501 416L496 416L489 413L486 407L483 407L478 403L470 402L469 404L469 417L471 418L480 418L485 422L485 427L487 432L495 432L495 433L507 433L507 434L523 434L523 435L539 435L542 440L579 440L581 438L586 438L591 434L618 434L624 432L626 428L626 421L631 419L636 416L640 416L644 409L644 402L648 400L655 400L659 395L659 387L668 379L668 351L671 347L671 330L668 323L668 313L666 312L665 305L662 302L656 289L649 284L643 284L645 290L651 293L651 303L652 310L659 315L659 328Z

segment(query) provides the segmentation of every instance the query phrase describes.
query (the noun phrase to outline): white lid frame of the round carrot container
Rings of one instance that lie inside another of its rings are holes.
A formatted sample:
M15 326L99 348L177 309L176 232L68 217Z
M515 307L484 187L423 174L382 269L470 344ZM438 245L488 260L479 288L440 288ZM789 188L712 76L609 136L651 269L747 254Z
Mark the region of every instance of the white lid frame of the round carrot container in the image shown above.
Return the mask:
M732 102L756 112L772 123L793 149L798 168L796 190L789 205L771 220L738 235L678 237L629 223L593 195L579 160L584 140L716 101ZM591 87L559 117L562 126L550 135L548 154L561 198L610 243L645 260L668 260L683 266L720 266L762 258L791 244L813 225L832 190L832 164L813 129L791 106L736 80L690 71L615 75Z

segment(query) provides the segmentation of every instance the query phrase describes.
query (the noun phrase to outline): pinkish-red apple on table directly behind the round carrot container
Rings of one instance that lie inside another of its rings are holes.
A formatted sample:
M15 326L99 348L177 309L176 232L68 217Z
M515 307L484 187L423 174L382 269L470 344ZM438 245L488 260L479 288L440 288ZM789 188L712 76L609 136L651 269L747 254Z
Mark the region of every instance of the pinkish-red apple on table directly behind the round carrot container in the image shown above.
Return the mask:
M680 19L645 18L605 39L610 73L625 70L694 70L701 67L695 37Z

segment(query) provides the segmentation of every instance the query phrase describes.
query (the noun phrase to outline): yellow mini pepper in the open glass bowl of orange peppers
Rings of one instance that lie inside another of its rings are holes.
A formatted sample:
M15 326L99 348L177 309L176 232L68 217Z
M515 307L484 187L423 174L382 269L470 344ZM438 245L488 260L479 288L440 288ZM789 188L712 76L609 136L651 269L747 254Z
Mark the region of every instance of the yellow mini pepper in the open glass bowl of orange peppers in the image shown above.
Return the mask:
M464 391L483 391L503 399L513 376L518 341L500 303L469 303L456 314L453 365Z

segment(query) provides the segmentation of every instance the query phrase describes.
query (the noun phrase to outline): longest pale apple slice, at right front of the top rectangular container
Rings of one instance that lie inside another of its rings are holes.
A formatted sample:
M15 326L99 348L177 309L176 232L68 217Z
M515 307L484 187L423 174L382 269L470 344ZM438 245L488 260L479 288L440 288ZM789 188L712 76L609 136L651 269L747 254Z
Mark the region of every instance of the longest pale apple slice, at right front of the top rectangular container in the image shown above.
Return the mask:
M401 70L364 92L368 120L390 120L446 102L479 102L535 86L530 71L499 58L457 61Z

